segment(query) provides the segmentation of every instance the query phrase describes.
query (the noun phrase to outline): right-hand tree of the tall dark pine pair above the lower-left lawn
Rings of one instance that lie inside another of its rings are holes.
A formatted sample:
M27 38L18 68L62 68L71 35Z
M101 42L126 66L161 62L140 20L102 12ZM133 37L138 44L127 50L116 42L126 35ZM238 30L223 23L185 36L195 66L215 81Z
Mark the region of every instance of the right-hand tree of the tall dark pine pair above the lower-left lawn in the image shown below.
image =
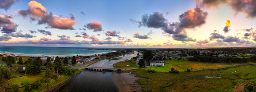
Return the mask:
M41 58L38 57L36 60L34 60L33 62L33 65L34 65L34 74L41 74Z

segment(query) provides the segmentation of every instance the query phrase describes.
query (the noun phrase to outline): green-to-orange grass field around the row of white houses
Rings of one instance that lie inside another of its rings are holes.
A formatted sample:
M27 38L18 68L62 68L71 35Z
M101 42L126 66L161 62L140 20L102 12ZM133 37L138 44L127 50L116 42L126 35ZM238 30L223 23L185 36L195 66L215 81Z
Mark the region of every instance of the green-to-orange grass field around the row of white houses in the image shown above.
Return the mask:
M210 64L210 63L200 63L192 62L188 60L166 60L164 67L148 67L145 69L155 70L158 72L169 72L173 67L175 70L184 71L193 68L191 71L204 69L214 69L219 67L230 67L232 65L228 64Z

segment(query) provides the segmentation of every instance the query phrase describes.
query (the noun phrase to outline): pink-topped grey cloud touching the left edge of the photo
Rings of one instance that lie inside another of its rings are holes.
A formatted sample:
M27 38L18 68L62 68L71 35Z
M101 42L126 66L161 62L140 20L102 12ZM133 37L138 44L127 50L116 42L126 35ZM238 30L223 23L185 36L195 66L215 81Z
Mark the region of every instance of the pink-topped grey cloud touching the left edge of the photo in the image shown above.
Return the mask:
M11 33L16 32L19 25L15 21L11 21L11 15L0 15L0 28L1 33Z

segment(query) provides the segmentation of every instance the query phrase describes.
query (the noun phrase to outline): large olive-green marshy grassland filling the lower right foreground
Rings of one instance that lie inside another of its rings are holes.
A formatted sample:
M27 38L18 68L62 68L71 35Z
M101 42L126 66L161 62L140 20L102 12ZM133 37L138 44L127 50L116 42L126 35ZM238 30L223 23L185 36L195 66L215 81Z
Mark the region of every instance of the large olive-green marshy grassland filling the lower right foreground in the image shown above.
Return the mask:
M163 72L147 73L145 69L139 68L132 71L139 77L139 83L143 91L149 92L231 92L243 91L245 84L256 83L256 65L247 65L226 70L199 72L180 72L169 74ZM206 78L212 76L215 78ZM217 78L221 77L221 78ZM148 78L149 80L144 80Z

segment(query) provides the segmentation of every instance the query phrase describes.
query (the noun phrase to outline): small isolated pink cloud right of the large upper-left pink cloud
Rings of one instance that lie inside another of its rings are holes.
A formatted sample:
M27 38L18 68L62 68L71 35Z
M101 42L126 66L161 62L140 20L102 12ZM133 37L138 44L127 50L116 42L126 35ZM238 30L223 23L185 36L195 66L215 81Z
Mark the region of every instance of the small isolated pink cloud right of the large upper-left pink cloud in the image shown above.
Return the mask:
M93 30L93 32L100 32L102 31L102 23L100 22L87 22L87 25L84 25L84 27Z

